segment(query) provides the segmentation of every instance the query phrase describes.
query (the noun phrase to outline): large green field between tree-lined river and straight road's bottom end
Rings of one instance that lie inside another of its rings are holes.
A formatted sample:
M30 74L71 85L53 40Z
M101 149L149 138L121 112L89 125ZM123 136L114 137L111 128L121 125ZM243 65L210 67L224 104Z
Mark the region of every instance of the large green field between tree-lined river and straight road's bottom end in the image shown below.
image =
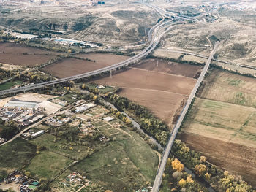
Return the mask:
M129 128L97 128L110 142L75 165L74 171L87 173L92 182L112 191L132 191L153 182L158 157L138 134Z

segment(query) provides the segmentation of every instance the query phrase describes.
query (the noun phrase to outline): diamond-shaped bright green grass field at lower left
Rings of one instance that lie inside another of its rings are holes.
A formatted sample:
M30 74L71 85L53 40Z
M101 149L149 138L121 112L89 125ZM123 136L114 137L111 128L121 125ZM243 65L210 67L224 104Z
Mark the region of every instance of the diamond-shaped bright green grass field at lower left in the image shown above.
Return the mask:
M51 180L71 163L72 160L69 158L44 150L31 160L26 170L34 176Z

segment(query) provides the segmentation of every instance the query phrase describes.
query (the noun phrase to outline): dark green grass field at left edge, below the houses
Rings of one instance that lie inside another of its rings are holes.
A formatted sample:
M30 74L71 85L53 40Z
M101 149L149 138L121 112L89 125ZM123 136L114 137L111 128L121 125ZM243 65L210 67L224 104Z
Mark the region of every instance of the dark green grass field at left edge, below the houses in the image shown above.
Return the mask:
M0 147L0 167L3 169L20 169L29 164L35 154L36 146L24 139L17 138Z

